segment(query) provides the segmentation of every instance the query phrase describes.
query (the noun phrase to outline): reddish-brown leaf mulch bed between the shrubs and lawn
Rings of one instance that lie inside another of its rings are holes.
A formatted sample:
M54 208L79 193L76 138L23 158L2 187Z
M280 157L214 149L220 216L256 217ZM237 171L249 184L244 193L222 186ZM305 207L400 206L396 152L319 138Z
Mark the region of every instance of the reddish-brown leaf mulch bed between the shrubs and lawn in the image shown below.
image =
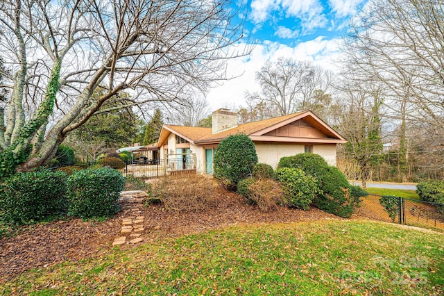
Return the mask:
M173 213L165 211L160 204L149 205L141 213L145 217L144 242L122 245L119 249L237 224L340 219L317 208L310 208L309 211L279 208L278 211L263 213L233 192L219 188L216 195L219 199L216 208L200 213ZM24 227L19 235L0 240L0 283L31 268L78 261L110 252L114 238L121 236L121 220L125 216L118 213L105 222L67 219Z

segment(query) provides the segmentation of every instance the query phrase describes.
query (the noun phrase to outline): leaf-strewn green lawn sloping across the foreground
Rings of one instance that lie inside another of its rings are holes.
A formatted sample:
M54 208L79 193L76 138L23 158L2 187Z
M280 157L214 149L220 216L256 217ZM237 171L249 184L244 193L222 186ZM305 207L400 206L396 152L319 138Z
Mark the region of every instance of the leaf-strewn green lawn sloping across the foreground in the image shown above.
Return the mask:
M229 227L31 270L13 295L440 295L444 236L364 221Z

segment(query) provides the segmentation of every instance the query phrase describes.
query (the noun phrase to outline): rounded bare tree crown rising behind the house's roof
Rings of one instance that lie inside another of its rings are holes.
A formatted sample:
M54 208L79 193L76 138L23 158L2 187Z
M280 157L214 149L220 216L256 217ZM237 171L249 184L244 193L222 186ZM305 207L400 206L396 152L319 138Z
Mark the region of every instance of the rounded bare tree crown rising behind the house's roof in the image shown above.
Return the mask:
M256 73L261 85L260 92L247 92L251 101L263 101L278 109L279 115L287 115L300 110L309 110L321 102L322 96L332 85L332 75L309 62L291 58L279 58L276 63L266 62Z

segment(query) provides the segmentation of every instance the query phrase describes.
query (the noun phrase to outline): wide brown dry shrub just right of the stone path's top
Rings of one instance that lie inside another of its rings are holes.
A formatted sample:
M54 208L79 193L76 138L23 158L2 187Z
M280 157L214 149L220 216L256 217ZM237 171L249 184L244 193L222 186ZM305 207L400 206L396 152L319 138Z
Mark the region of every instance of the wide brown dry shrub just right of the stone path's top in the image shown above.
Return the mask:
M201 174L164 176L153 183L152 197L164 204L169 211L205 211L216 204L212 179Z

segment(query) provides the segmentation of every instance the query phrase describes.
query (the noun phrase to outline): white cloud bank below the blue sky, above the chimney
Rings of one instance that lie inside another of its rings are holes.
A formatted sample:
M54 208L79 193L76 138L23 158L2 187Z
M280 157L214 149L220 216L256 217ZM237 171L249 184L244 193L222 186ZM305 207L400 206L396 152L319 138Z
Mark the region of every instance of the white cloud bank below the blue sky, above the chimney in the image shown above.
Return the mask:
M243 104L245 106L245 92L247 90L253 92L260 88L260 85L255 81L255 73L261 69L266 60L274 62L280 57L310 60L314 65L337 71L334 62L340 54L339 42L340 39L327 40L318 37L314 40L301 42L296 47L268 40L257 44L250 56L228 62L228 75L240 76L225 81L223 85L210 90L207 95L208 102L212 110L227 105L239 106Z

